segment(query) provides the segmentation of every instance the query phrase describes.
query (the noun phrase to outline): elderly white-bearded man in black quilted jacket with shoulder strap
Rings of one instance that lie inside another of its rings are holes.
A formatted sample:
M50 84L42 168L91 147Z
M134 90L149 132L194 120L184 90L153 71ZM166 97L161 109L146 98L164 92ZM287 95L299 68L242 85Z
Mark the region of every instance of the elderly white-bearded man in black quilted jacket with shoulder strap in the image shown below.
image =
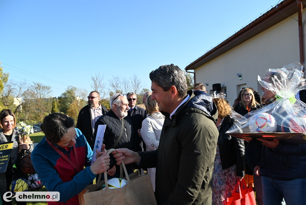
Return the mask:
M95 145L95 138L99 125L106 125L103 144L105 149L128 148L133 145L133 126L128 115L129 102L125 94L116 93L110 98L110 112L101 116L95 123L94 140L91 149ZM129 174L132 173L132 166L126 165ZM124 173L123 173L124 174ZM107 171L107 179L120 177L120 165L116 165L116 160L110 157L110 169ZM103 178L103 177L101 177ZM101 179L103 180L103 179Z

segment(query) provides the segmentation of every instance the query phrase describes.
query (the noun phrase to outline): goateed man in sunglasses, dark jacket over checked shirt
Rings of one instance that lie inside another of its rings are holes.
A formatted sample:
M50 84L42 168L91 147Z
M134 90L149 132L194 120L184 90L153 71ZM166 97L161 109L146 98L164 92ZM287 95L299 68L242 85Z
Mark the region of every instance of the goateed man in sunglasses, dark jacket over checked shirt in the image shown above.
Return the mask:
M91 144L95 131L95 122L107 113L108 110L104 105L99 103L100 95L97 91L91 91L87 98L88 104L80 110L76 128L84 134L88 144Z

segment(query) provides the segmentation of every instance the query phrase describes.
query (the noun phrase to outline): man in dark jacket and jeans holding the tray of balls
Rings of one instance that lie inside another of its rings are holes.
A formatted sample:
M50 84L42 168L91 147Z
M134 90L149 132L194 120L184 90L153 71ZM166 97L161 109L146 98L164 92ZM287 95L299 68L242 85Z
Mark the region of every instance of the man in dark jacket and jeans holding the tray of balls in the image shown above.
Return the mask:
M271 85L271 89L261 87L266 99L264 106L276 100L277 88L287 80L284 76L281 71L271 71L264 77L263 84ZM299 100L295 104L306 108ZM252 139L246 147L245 156L247 162L255 167L255 174L261 176L264 204L282 204L283 199L287 204L306 204L305 144L278 139Z

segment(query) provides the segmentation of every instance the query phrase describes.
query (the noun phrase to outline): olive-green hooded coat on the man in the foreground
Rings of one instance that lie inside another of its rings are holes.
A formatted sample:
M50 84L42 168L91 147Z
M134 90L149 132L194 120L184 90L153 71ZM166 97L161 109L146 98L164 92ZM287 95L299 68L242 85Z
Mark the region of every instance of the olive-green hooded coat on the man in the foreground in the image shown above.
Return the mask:
M158 204L209 204L216 154L218 111L203 91L190 98L170 119L165 115L158 150L139 152L140 167L156 166Z

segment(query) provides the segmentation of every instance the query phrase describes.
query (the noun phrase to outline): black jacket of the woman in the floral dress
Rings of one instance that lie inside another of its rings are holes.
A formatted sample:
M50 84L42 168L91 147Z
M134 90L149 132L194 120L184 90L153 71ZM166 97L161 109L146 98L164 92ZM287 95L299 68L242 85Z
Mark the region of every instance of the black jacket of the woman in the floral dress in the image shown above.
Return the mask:
M225 134L234 124L234 119L230 116L224 118L218 137L218 146L221 158L222 169L227 169L236 164L236 175L244 177L244 140L237 137L231 137Z

